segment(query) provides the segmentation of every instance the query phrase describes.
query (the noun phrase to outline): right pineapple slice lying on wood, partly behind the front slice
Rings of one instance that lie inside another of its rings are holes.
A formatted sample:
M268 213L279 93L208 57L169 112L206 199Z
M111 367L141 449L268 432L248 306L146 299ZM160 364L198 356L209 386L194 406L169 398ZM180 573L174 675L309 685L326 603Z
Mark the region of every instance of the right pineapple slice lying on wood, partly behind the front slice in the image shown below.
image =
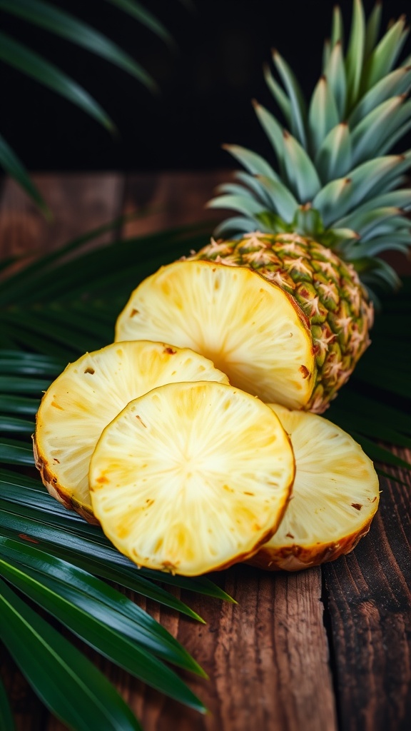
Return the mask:
M327 419L269 406L290 435L295 482L279 530L252 564L298 571L350 553L368 533L380 499L372 461Z

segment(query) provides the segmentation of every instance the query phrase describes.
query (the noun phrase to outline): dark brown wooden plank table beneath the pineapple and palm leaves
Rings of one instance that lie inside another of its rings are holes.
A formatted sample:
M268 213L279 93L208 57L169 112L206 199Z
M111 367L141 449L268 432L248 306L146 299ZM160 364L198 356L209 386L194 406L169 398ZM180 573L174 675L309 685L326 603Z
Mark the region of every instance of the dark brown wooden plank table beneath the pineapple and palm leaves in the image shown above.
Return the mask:
M53 249L137 209L124 235L214 219L203 205L227 173L37 175L55 219L47 224L14 183L0 198L0 254ZM110 237L106 237L108 240ZM398 452L399 453L399 452ZM411 460L410 452L402 452ZM322 568L269 574L238 566L212 578L238 605L189 592L202 626L137 601L195 656L209 681L187 678L208 716L167 700L94 659L146 731L409 731L411 728L411 480L382 480L381 507L353 553ZM34 697L12 660L1 672L18 731L64 727ZM99 731L99 730L96 730Z

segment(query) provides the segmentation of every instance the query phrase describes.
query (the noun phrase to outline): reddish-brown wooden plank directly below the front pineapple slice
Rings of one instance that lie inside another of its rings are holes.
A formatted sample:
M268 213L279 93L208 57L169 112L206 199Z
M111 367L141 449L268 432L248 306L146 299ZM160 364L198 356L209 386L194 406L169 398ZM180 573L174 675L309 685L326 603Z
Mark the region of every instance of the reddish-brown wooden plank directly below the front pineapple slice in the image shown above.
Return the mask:
M287 575L242 565L211 578L238 604L181 592L206 625L138 601L208 673L208 681L182 674L207 716L108 668L145 731L336 731L320 569ZM62 728L50 721L48 731Z

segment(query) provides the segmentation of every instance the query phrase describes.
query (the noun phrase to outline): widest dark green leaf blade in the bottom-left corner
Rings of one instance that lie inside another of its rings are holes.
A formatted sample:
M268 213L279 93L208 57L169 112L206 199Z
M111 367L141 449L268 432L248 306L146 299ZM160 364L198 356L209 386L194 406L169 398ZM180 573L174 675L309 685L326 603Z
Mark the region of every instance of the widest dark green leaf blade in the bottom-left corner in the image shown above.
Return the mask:
M1 579L0 587L1 639L50 711L78 731L141 731L97 667Z

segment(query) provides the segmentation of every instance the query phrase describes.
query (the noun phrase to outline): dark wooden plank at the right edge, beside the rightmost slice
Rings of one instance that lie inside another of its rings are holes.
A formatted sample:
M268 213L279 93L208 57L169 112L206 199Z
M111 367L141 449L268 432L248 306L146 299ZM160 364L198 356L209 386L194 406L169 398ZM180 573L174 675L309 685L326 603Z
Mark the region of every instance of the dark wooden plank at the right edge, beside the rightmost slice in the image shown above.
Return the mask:
M391 474L407 484L382 480L369 536L323 567L342 731L411 726L411 478Z

